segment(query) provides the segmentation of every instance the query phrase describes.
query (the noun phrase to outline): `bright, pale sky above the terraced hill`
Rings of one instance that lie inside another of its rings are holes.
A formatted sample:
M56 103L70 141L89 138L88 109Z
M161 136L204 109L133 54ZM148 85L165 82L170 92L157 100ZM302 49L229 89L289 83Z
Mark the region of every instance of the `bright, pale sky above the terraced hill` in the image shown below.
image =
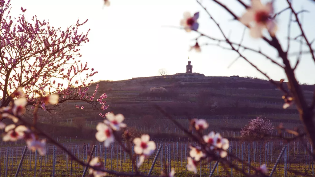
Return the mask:
M305 9L303 27L309 40L315 38L315 3L311 0L291 0L296 10ZM236 0L221 0L238 16L245 9ZM249 0L244 0L250 4ZM262 0L263 3L268 1ZM223 31L234 42L239 42L245 26L232 17L211 0L201 0L210 14L217 20ZM164 68L168 74L186 72L186 65L191 61L193 72L205 76L251 76L265 78L246 61L238 59L231 67L231 62L238 56L236 52L221 49L218 46L202 46L201 53L189 51L198 36L194 31L187 33L180 29L183 13L200 12L199 31L212 37L223 39L216 25L209 19L208 14L195 0L111 0L109 7L104 6L103 0L11 0L11 16L18 17L20 8L27 9L26 19L37 15L39 20L45 19L54 27L66 29L75 24L77 19L88 22L81 27L81 32L91 29L89 42L84 43L80 53L81 61L87 61L90 68L99 73L94 80L124 80L132 77L149 77L158 75L158 70ZM286 0L275 0L275 12L287 7ZM301 14L300 14L301 15ZM287 46L287 25L289 11L277 18L278 31L276 36ZM293 24L291 37L300 34L296 24ZM268 35L266 35L268 36ZM199 44L214 43L205 38ZM261 39L252 39L249 30L245 31L243 45L277 58L275 49L266 45ZM290 53L297 52L298 42L291 42ZM313 45L314 47L314 45ZM303 46L303 50L306 50ZM272 79L286 78L284 71L258 54L243 51L245 56L266 72ZM189 60L188 60L189 57ZM296 56L290 57L294 64ZM296 77L300 83L315 83L315 62L310 55L303 55L296 69Z

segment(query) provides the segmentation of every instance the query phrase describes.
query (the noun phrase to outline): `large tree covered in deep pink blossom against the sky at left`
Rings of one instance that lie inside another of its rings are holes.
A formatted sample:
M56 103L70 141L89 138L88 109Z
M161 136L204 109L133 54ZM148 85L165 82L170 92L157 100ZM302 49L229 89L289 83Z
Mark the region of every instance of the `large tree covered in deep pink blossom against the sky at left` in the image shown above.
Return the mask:
M10 1L0 4L1 106L8 106L12 99L9 95L21 88L27 105L32 108L37 105L46 109L47 101L37 102L39 93L43 97L58 95L59 103L80 100L104 110L106 94L95 100L97 88L94 93L88 92L88 80L97 71L77 59L81 57L79 46L89 42L89 31L79 33L79 27L87 20L82 23L77 20L66 29L54 28L37 16L27 21L23 8L22 14L14 18L10 15ZM59 104L54 106L56 108Z

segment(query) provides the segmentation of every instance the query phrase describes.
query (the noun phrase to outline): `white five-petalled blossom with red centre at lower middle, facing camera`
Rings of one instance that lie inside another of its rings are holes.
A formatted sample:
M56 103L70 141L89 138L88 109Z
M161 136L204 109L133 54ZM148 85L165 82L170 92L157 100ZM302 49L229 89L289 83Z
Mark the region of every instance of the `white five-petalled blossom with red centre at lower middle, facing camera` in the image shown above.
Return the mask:
M148 134L141 135L141 138L135 138L135 153L136 154L144 154L146 156L150 156L155 150L155 142L150 141L150 136Z

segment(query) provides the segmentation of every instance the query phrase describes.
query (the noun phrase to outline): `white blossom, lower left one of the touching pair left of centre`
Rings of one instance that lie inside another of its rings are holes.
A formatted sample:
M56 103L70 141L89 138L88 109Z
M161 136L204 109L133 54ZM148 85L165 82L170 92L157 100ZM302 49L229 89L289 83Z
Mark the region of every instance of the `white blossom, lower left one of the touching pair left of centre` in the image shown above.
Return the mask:
M115 141L112 129L105 123L98 123L96 125L96 130L95 138L100 142L104 141L104 146L109 147L109 145Z

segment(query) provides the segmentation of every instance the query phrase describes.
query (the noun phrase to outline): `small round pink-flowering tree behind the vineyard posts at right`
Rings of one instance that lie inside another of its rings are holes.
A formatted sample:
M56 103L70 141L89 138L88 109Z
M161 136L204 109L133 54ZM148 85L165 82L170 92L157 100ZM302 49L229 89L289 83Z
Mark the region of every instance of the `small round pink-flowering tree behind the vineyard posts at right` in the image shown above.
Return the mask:
M257 116L255 119L249 120L249 124L242 128L241 137L263 140L263 135L271 134L273 128L270 119Z

